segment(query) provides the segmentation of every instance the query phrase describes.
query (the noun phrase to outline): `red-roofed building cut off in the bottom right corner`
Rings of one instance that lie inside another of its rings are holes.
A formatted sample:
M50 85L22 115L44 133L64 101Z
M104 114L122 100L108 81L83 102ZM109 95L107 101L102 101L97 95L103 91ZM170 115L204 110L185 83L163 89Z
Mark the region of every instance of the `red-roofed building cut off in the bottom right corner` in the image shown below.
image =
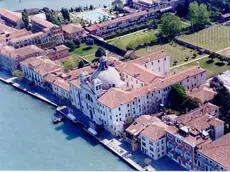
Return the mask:
M230 133L197 150L195 170L229 171L230 170Z

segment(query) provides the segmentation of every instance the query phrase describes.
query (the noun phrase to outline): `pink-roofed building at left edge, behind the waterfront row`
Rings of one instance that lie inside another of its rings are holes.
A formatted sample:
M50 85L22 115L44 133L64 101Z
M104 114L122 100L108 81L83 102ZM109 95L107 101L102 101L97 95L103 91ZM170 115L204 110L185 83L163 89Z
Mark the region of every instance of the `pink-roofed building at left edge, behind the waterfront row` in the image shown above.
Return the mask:
M15 29L4 24L0 24L0 43L8 43L11 39L30 35L26 29Z

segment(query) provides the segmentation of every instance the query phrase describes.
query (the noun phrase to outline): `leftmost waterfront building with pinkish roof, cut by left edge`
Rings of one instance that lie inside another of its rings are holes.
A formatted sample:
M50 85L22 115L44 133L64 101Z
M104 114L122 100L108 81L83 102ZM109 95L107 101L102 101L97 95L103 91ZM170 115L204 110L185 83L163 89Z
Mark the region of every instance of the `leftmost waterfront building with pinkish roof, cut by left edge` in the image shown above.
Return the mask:
M0 65L3 69L13 72L19 69L19 63L31 57L41 56L44 51L35 45L15 49L11 46L0 48Z

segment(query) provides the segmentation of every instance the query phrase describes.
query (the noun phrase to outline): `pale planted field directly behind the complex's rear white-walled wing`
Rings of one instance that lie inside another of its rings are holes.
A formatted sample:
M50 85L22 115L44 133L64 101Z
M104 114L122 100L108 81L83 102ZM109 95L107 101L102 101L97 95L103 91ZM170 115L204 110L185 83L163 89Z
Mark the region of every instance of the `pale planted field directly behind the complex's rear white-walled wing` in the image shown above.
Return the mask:
M163 44L163 45L154 45L151 47L143 48L143 49L137 50L136 54L138 56L145 56L145 55L151 54L158 50L164 50L170 56L171 66L173 65L175 60L178 61L177 64L180 64L180 63L185 62L186 57L189 57L189 60L190 60L192 59L194 53L197 54L197 52L195 52L194 50L186 48L179 44L176 44L175 42L171 42L171 43ZM201 57L201 55L197 54L196 58L199 58L199 57Z

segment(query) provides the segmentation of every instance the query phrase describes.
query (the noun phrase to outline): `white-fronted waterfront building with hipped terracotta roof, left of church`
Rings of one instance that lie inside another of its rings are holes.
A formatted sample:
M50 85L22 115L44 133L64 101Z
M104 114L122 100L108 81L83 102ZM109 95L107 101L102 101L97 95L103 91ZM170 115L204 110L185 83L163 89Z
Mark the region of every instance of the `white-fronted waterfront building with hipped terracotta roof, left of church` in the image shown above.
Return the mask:
M43 56L32 57L20 62L20 68L26 79L43 88L43 78L46 75L62 70L60 65L55 64Z

